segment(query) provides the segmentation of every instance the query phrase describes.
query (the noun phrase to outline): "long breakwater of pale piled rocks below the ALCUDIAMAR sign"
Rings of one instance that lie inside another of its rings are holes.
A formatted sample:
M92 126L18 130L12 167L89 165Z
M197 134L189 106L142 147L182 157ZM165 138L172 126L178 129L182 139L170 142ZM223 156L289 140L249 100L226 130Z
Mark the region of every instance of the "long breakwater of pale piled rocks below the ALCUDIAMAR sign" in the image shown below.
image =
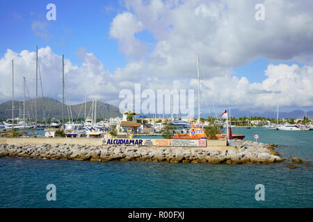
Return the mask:
M51 160L154 161L174 163L262 164L281 162L273 146L249 141L236 141L235 146L218 151L209 148L148 147L69 144L8 145L0 144L0 157L30 157Z

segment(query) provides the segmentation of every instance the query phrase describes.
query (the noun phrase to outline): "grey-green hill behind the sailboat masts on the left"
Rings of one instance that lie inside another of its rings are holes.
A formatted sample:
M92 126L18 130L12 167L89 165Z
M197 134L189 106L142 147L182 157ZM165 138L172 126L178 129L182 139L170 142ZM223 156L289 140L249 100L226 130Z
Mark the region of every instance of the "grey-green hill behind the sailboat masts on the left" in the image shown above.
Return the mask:
M46 119L49 118L62 118L62 102L48 97L44 99L40 98L37 100L37 119L43 119L43 103L45 104L45 116ZM35 118L35 99L25 102L26 108L26 118L34 119ZM92 101L86 102L86 115L88 112L91 112ZM20 106L19 106L20 105ZM23 117L23 101L14 101L14 117L19 117L19 107L21 108L20 114L21 118ZM79 117L84 117L84 103L79 105L70 105L68 109L72 110L73 119ZM80 113L79 113L80 111ZM91 113L90 113L91 114ZM9 119L12 117L12 101L6 101L0 104L0 119ZM64 117L68 118L67 106L64 107ZM110 117L122 117L118 107L114 105L109 105L102 101L97 101L97 118L109 119Z

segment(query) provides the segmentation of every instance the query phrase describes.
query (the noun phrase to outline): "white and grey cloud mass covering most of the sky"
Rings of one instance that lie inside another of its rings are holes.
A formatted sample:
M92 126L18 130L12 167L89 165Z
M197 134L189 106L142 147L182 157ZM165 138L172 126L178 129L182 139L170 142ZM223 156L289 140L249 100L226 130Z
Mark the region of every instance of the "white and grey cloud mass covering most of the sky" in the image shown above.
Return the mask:
M71 100L82 101L86 93L118 105L120 90L134 90L134 83L155 92L170 89L172 82L177 89L197 89L198 54L202 108L206 99L215 105L313 106L313 4L266 0L266 19L257 21L256 3L259 1L126 0L125 10L113 19L109 35L118 41L129 63L111 74L93 53L80 48L80 67L65 60ZM36 27L45 30L45 24ZM142 31L149 31L157 40L152 51L136 39L135 34ZM61 94L61 56L49 46L40 49L39 56L45 95L55 97ZM259 83L234 74L234 67L259 57L305 65L268 66L266 79ZM34 52L8 49L0 60L0 87L6 89L1 90L2 101L11 97L12 59L16 60L17 76L33 79L35 74ZM22 96L22 77L18 84L16 93Z

